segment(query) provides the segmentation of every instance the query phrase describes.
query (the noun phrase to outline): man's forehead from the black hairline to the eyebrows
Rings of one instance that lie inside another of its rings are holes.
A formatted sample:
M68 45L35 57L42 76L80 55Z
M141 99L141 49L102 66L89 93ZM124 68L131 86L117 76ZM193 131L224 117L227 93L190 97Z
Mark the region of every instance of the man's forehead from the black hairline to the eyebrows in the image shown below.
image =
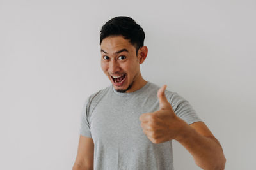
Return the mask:
M126 48L129 52L136 50L128 39L124 39L124 36L108 36L102 40L100 48L108 53L114 53L122 48Z

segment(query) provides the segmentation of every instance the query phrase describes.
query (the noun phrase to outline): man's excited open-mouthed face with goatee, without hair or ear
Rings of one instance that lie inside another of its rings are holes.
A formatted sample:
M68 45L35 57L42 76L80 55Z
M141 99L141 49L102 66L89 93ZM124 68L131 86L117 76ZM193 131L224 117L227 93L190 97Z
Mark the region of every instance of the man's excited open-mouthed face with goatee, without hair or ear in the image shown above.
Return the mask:
M129 92L140 75L136 48L123 36L108 36L100 48L102 71L118 92Z

